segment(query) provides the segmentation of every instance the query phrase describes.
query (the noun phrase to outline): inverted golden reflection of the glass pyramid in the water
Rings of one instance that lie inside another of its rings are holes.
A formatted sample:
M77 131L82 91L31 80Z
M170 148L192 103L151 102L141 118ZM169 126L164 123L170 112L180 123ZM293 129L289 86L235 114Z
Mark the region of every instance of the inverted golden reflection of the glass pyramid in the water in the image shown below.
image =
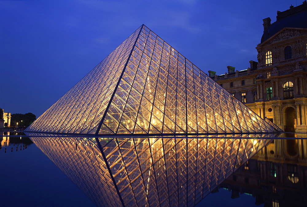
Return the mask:
M259 136L31 140L98 206L194 206L269 141Z

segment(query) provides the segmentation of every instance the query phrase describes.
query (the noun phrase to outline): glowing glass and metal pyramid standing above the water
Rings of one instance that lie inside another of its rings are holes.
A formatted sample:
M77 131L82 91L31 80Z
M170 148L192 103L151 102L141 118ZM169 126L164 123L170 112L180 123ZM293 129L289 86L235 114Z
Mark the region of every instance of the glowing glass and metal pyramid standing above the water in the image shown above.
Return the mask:
M142 25L26 131L98 135L276 129Z

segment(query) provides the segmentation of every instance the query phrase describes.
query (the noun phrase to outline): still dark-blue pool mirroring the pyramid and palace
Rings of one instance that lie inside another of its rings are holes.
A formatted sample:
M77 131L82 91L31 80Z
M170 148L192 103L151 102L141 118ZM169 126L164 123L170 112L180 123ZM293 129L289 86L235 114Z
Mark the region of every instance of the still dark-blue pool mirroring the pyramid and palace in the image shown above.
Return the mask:
M0 150L0 205L306 205L306 140L263 138L21 137Z

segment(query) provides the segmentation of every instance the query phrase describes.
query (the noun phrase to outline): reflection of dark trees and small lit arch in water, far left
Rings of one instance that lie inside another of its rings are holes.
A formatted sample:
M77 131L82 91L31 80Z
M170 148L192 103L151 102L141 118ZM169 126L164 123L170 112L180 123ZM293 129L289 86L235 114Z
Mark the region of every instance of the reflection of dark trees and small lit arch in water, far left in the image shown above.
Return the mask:
M11 135L15 134L21 135L15 132ZM0 132L0 150L4 153L25 150L30 144L33 142L28 137L10 137L10 132Z

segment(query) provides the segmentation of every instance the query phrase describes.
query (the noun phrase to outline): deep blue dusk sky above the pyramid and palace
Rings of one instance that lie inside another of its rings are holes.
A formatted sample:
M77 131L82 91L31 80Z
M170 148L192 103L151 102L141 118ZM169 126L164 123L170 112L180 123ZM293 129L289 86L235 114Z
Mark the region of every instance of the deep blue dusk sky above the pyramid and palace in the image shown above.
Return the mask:
M245 70L262 19L302 2L0 1L0 107L40 116L142 24L205 73Z

